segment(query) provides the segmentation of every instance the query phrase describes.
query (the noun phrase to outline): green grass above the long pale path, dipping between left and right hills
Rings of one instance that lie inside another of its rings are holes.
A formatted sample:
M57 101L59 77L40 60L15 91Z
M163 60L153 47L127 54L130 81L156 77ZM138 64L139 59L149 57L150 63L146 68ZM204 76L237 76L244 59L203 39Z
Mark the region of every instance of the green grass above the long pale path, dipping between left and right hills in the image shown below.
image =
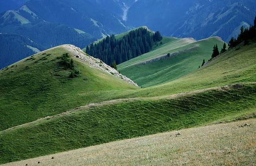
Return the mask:
M255 46L256 43L251 43L240 50L227 51L200 70L145 89L132 87L79 62L76 62L76 66L82 72L81 76L69 79L70 72L59 68L58 61L54 60L65 53L63 49L51 50L51 56L47 57L38 54L34 57L36 60L23 60L16 63L15 67L11 68L11 65L8 70L0 71L0 130L89 103L163 96L233 83L255 82ZM46 60L39 60L44 56ZM29 68L26 69L26 66Z

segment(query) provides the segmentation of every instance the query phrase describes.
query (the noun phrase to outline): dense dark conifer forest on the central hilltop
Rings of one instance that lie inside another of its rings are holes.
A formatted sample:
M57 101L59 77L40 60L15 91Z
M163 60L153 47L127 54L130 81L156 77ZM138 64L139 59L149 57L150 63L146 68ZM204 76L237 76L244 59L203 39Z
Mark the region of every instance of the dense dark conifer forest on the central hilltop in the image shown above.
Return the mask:
M163 39L160 32L149 32L148 29L139 28L130 31L121 39L115 35L107 36L99 43L92 43L86 47L86 53L99 58L110 65L114 61L120 64L152 50L154 43Z

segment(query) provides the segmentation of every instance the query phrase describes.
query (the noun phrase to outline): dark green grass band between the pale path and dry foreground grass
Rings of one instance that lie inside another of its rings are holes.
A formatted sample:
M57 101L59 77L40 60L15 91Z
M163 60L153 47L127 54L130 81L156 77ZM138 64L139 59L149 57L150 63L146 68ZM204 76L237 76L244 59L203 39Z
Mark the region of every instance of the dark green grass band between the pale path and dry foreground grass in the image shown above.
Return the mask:
M256 84L90 107L0 132L0 163L230 121L255 112Z

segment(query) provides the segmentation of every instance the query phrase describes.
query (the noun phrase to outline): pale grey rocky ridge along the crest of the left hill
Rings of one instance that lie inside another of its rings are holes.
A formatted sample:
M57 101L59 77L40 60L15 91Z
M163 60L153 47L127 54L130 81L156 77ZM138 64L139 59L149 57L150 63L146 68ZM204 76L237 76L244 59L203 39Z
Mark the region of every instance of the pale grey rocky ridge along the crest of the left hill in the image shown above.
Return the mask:
M134 83L131 79L127 78L126 76L123 76L117 70L111 68L109 65L105 64L103 61L100 61L100 59L93 58L88 54L85 54L80 48L70 44L63 45L61 47L64 47L73 57L78 58L82 62L85 62L90 67L99 69L103 72L116 76L122 79L123 81L138 87L137 83Z

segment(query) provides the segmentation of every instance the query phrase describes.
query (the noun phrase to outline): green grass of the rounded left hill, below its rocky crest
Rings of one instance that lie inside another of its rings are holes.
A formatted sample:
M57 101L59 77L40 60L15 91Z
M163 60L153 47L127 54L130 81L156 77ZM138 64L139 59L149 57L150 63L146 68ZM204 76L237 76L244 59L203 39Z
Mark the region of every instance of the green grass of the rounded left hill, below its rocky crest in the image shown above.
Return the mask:
M71 71L63 69L57 58L66 52L57 47L0 71L0 130L88 103L115 99L119 91L137 89L76 58L75 68L81 74L70 79Z

